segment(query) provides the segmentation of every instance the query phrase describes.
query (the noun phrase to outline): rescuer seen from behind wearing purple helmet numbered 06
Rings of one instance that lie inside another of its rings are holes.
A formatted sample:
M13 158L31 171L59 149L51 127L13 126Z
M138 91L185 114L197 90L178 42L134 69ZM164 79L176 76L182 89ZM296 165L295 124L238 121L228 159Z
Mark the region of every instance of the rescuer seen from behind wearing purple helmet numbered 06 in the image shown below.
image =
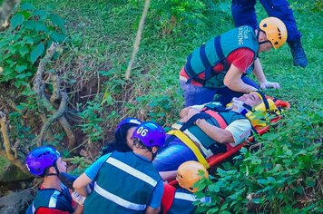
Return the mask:
M162 178L152 160L165 141L165 131L142 122L132 134L133 151L113 151L96 160L73 182L83 196L84 213L158 213ZM86 186L94 180L91 193Z

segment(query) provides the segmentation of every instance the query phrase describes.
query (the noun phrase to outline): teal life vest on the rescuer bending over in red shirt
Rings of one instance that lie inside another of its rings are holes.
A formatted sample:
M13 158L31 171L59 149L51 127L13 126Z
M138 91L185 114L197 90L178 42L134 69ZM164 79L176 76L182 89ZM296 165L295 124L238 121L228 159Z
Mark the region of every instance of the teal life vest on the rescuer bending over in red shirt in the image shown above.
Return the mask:
M226 58L239 48L250 49L254 53L254 60L257 59L259 43L254 30L250 26L244 25L234 28L213 37L206 44L202 44L188 56L185 72L190 76L190 80L201 83L204 87L225 87L223 84L224 76L230 68ZM220 73L213 71L213 66L218 63L221 63L224 68ZM247 74L252 70L253 63L247 70ZM201 73L204 75L199 76Z

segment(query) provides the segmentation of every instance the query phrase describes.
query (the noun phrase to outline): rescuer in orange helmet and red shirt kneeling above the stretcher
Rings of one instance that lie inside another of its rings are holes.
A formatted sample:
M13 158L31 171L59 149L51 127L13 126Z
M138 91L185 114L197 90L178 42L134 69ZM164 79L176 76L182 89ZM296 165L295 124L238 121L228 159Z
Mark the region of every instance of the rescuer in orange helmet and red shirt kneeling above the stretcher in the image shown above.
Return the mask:
M280 88L267 81L258 55L285 44L287 29L276 17L263 19L253 30L244 25L211 38L187 58L180 72L185 106L212 102L226 105L233 97L260 88ZM247 75L254 73L259 85Z

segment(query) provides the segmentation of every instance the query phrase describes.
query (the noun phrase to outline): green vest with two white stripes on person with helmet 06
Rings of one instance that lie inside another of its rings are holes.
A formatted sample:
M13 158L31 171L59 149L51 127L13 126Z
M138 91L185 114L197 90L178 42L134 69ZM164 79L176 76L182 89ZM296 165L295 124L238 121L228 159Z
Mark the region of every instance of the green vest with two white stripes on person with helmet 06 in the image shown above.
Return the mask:
M95 177L84 213L143 213L160 180L151 161L114 151Z

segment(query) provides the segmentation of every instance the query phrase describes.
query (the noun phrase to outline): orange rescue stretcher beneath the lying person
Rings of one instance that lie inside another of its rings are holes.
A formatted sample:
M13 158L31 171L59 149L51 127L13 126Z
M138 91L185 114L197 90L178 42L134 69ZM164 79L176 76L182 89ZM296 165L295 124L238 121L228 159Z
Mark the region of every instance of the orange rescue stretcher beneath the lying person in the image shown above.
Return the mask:
M269 96L266 96L266 98L274 101L274 103L278 109L287 110L290 108L289 102L277 100L277 99L269 97ZM277 117L270 120L270 123L278 122L281 118L282 118L281 114L277 115ZM258 132L259 135L261 135L261 134L269 131L269 128L270 128L269 125L267 125L265 127L256 126L255 130ZM240 145L238 145L238 146L232 147L232 146L230 146L230 144L227 144L227 151L226 152L215 154L215 155L211 156L210 158L206 159L207 164L210 166L209 169L211 167L215 166L216 164L219 164L221 161L230 158L232 155L234 155L235 153L240 151L240 149L242 147L246 146L250 141L253 141L253 140L254 140L254 137L251 135L247 141L240 143ZM203 164L203 165L205 165L205 164ZM171 181L169 181L169 184L172 186L176 186L178 184L178 182L177 182L177 180L171 180Z

